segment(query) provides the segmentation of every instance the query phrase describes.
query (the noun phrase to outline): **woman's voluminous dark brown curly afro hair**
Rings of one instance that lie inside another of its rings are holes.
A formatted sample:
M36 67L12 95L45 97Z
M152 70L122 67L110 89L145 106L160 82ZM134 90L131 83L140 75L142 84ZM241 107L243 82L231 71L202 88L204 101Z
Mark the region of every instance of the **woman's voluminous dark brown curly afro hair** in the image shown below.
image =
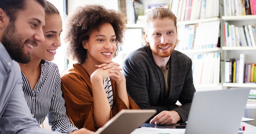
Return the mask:
M66 20L64 42L67 44L66 56L79 64L87 58L87 50L82 42L88 40L94 30L99 30L103 23L110 23L116 34L117 56L119 47L123 43L124 32L127 29L123 14L113 9L106 9L102 5L84 5L77 7Z

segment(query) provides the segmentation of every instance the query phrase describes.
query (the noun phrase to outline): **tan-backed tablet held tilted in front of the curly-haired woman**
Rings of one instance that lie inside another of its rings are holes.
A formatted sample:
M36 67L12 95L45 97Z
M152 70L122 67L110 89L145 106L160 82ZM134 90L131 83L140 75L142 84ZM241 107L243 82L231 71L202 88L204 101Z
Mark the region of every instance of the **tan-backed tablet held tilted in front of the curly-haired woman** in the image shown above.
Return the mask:
M130 134L156 114L156 110L121 110L95 134Z

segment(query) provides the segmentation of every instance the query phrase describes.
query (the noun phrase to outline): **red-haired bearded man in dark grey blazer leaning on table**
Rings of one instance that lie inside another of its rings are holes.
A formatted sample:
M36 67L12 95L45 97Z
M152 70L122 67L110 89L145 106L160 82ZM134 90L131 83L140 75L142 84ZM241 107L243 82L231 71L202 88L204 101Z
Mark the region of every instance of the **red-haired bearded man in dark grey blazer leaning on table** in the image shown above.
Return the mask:
M143 30L146 45L123 62L127 93L140 109L157 110L150 124L185 122L195 87L191 59L174 50L179 43L177 18L166 8L155 8L146 15Z

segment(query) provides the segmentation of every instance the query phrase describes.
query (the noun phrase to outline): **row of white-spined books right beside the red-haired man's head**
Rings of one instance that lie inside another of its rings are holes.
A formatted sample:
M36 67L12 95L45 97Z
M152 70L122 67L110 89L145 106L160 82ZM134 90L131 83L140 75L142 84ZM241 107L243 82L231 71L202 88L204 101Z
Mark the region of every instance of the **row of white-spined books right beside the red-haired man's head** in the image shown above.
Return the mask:
M220 47L220 21L179 25L177 50L205 49ZM211 31L211 32L209 32Z

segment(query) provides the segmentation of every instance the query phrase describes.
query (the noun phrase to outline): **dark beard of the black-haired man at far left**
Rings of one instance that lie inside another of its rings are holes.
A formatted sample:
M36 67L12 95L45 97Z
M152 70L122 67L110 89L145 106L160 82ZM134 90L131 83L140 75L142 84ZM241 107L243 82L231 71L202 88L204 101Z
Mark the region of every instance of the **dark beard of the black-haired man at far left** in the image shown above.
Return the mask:
M22 35L17 33L14 22L10 22L10 24L4 30L2 44L13 60L23 64L30 62L31 54L26 54L24 52Z

